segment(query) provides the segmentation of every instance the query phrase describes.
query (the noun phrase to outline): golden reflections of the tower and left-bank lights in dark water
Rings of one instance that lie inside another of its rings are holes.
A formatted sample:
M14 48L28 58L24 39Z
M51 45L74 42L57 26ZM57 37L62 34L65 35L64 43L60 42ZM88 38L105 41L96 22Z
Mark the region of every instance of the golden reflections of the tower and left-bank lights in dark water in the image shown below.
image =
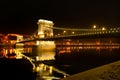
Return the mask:
M36 63L38 61L45 61L45 60L55 60L55 52L53 51L40 51L39 49L36 51L37 56L36 60L33 57L28 57L31 55L32 48L2 48L0 49L0 56L6 58L16 58L22 59L23 57L28 59L31 64L33 65L33 72L37 72L36 80L53 80L53 79L60 79L59 77L55 77L53 74L53 70L55 69L53 66L49 66L43 64L42 62ZM12 54L15 54L14 56ZM30 53L30 55L28 55ZM8 56L8 54L11 54ZM28 55L28 56L26 56ZM34 53L32 53L34 55Z

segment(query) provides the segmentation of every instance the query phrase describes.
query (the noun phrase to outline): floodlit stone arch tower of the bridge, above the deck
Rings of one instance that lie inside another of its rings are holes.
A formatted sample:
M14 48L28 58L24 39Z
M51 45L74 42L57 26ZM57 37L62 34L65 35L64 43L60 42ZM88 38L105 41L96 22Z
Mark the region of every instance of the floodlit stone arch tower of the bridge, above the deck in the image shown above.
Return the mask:
M53 25L54 23L49 20L39 19L38 22L38 37L52 37L53 36Z

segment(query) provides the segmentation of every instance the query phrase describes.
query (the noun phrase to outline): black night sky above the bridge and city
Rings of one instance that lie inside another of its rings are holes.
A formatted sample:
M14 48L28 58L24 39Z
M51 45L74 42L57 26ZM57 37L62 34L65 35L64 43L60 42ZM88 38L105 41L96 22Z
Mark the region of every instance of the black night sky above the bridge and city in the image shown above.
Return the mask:
M90 28L120 23L119 0L1 0L0 33L31 34L38 19L56 27Z

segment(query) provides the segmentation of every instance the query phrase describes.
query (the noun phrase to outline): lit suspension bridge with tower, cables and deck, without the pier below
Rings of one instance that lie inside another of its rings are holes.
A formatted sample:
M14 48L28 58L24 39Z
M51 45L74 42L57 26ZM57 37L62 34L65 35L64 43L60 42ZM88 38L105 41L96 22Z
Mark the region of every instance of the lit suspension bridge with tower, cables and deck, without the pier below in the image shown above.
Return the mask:
M38 30L35 31L31 37L23 39L18 43L29 41L54 41L58 39L79 39L79 38L101 38L101 37L120 37L120 27L115 28L91 28L91 29L77 29L77 28L60 28L54 27L54 23L49 20L40 19L37 22ZM57 31L57 33L54 33ZM59 33L58 33L59 32Z

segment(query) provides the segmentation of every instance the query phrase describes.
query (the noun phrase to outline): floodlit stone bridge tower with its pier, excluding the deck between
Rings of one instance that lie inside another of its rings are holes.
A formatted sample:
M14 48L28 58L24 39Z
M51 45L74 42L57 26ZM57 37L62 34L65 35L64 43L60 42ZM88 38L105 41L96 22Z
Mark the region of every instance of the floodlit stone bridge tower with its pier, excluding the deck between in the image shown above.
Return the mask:
M53 36L54 23L49 20L39 19L38 22L38 38L50 38ZM37 41L38 51L54 51L56 48L54 41Z

